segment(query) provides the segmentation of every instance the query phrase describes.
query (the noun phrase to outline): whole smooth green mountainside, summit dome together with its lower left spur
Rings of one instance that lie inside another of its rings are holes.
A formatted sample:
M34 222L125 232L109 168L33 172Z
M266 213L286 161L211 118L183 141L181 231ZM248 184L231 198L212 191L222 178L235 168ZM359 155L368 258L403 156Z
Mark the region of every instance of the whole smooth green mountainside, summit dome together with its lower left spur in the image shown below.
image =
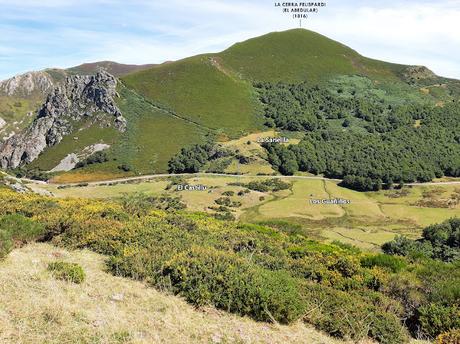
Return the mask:
M361 74L402 82L406 66L367 59L312 31L270 33L218 54L155 66L122 78L149 101L235 137L260 128L254 81L319 82Z

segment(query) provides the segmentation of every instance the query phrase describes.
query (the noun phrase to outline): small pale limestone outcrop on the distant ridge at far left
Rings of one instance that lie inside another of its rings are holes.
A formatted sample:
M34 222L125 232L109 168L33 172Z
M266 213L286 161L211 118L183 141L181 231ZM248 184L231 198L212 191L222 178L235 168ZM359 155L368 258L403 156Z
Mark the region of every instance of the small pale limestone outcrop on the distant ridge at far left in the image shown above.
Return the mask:
M47 94L53 88L53 78L45 71L28 72L0 81L0 94L9 97L28 97L33 93Z

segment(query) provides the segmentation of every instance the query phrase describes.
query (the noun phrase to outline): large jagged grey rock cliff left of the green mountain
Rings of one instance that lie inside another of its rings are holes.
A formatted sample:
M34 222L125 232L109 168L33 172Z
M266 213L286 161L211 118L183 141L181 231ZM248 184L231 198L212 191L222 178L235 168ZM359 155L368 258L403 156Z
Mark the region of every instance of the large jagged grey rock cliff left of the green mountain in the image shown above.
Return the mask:
M48 95L31 126L0 146L0 167L16 168L32 162L46 147L61 142L83 119L124 131L126 120L114 101L116 85L116 78L106 72L68 77Z

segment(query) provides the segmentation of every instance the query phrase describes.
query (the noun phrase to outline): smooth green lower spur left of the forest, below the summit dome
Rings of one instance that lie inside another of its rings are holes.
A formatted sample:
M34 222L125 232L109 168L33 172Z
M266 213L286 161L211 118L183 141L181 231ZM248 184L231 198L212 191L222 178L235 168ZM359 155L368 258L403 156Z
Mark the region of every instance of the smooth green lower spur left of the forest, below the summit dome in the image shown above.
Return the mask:
M201 55L122 78L125 85L191 122L230 136L260 128L251 84Z

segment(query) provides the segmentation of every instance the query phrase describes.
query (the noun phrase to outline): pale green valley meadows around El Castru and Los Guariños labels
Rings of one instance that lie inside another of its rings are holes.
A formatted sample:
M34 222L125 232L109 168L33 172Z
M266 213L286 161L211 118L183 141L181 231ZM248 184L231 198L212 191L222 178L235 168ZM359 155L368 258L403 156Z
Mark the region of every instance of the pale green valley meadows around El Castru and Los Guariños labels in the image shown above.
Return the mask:
M57 197L113 198L126 193L143 192L152 195L179 196L192 211L213 212L216 200L233 192L240 207L233 214L245 222L284 220L301 225L309 237L319 240L339 240L366 250L380 249L380 245L404 234L418 238L421 229L451 217L460 216L459 180L442 180L435 184L409 185L403 190L356 192L339 187L338 182L311 176L283 178L292 183L290 190L257 192L238 196L244 188L235 183L248 183L264 176L188 175L181 183L205 185L206 192L178 192L167 189L172 179L167 175L138 177L118 181L80 185L29 184L36 192ZM279 178L279 177L276 177ZM282 178L282 177L281 177ZM312 204L311 200L345 199L350 204Z

